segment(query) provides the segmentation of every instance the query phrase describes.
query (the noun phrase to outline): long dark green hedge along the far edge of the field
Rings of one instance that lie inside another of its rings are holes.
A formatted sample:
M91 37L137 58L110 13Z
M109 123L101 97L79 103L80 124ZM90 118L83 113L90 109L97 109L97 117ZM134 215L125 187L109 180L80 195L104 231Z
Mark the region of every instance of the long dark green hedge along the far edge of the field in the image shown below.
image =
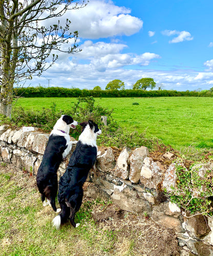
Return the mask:
M26 98L33 97L87 97L113 98L113 97L212 97L213 93L209 90L202 92L186 91L178 92L177 90L87 90L78 88L63 87L27 87L14 88L14 96Z

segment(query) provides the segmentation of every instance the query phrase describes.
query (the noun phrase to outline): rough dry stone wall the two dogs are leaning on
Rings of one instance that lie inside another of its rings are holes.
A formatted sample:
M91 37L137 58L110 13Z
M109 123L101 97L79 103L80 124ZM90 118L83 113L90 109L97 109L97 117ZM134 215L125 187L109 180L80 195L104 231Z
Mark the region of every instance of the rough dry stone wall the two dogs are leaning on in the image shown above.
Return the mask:
M36 175L48 138L49 134L41 133L34 127L12 130L2 125L1 161ZM74 149L75 145L72 151ZM175 163L171 161L169 166L165 166L155 161L143 146L135 150L98 150L95 167L90 171L84 189L86 196L110 198L123 210L147 214L153 221L174 229L182 255L189 255L191 252L200 255L202 247L205 247L206 256L213 255L213 219L203 215L185 217L177 205L171 203L168 197L162 196L162 190L169 192L171 186L176 184ZM174 155L167 152L163 157L171 160ZM60 164L59 176L65 172L67 162ZM210 162L194 168L201 177L204 177L207 169L213 172L213 164ZM195 191L195 196L196 193L199 192Z

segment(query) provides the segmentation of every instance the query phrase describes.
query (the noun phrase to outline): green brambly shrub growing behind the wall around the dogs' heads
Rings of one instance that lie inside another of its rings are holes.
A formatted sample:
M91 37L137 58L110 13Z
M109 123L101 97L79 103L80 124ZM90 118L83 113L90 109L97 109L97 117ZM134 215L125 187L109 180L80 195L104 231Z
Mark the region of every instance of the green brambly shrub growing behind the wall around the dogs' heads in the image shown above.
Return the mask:
M56 104L53 103L49 108L42 108L41 111L26 111L23 107L16 107L12 113L12 122L16 126L33 125L41 128L45 132L50 132L58 118L62 114L70 115L74 120L83 122L92 119L98 124L102 130L101 136L98 137L97 143L106 147L115 146L123 148L124 146L129 148L137 148L144 145L148 148L153 148L157 139L147 139L145 134L139 134L133 132L131 134L124 133L119 124L113 120L111 114L113 110L103 108L100 105L95 104L93 97L79 97L77 102L74 103L70 109L64 111L56 111ZM108 125L105 126L101 122L101 116L108 117ZM9 122L9 119L7 120ZM72 132L74 138L78 138L80 135L80 126Z

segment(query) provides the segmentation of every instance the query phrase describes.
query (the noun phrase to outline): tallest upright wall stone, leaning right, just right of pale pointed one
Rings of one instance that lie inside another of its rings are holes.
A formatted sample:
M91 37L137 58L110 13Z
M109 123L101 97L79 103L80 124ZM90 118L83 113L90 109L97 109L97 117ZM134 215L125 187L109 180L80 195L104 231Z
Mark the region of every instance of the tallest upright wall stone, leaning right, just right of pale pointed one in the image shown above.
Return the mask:
M143 160L148 156L148 149L140 147L133 151L130 157L130 175L129 179L133 183L138 183L140 180L140 172L143 165Z

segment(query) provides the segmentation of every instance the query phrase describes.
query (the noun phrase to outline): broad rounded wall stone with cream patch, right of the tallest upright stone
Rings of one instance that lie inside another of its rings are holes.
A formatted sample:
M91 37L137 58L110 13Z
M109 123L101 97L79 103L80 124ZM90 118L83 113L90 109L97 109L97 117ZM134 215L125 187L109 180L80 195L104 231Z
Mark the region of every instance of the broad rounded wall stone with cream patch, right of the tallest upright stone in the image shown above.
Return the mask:
M140 172L140 182L149 189L156 189L162 182L164 168L160 162L155 162L151 157L143 160L143 166Z

